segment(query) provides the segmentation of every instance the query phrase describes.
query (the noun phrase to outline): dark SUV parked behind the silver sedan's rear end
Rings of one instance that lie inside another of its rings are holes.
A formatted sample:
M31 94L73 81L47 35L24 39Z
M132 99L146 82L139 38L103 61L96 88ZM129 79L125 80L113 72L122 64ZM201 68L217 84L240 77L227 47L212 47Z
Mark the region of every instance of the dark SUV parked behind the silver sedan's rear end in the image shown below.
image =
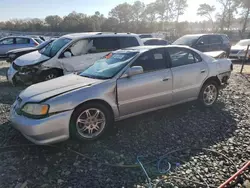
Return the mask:
M173 45L186 45L201 52L225 51L230 53L231 43L225 34L194 34L184 35L177 39Z

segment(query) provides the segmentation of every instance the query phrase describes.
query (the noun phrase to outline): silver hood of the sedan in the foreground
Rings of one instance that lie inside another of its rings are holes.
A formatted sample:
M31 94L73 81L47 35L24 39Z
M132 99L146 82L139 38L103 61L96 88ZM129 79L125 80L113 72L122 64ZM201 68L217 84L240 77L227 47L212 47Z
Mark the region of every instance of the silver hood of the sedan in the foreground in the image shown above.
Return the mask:
M31 85L22 91L19 97L23 102L40 102L72 90L90 87L104 80L91 79L76 74L68 74L46 82Z

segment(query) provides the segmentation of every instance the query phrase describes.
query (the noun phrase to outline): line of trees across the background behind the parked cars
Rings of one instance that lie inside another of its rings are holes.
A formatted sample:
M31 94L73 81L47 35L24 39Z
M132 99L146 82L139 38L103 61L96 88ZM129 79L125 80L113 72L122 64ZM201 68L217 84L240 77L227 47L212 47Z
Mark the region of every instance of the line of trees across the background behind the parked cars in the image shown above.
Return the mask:
M207 3L199 5L197 16L206 20L199 23L201 27L210 28L210 31L229 31L232 29L233 23L237 22L240 23L238 28L240 33L247 32L250 15L249 0L217 0L216 7ZM156 0L150 4L136 1L133 4L117 5L110 10L107 17L99 11L95 12L94 15L73 11L64 17L49 15L45 19L12 19L0 22L0 28L32 32L147 33L174 30L178 33L188 33L195 26L192 20L179 21L187 10L187 0Z

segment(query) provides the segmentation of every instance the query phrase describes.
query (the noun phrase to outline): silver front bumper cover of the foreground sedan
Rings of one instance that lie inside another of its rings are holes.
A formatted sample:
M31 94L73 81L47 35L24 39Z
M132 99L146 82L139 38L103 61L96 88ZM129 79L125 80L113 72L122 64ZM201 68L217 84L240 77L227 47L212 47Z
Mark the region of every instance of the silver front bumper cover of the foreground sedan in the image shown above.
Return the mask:
M61 142L69 138L69 122L73 110L61 112L43 119L30 119L10 111L12 126L28 140L38 145Z

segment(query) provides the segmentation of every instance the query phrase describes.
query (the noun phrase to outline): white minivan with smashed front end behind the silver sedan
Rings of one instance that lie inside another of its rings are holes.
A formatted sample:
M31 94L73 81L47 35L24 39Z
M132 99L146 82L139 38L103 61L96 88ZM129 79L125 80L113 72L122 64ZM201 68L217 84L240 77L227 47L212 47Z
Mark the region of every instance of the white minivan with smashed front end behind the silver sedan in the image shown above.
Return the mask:
M7 72L7 79L13 85L50 80L83 71L110 51L141 45L143 42L139 36L130 33L65 35L41 51L17 58Z

